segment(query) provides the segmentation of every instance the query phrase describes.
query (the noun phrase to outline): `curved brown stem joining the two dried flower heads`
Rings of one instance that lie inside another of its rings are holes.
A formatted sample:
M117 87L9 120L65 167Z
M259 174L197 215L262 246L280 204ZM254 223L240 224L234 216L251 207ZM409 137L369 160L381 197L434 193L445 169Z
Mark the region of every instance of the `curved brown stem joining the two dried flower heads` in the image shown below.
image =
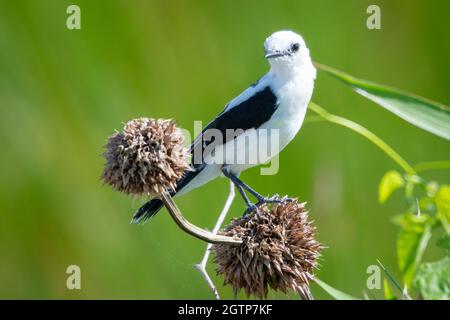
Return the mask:
M242 243L242 239L213 234L209 231L200 229L199 227L187 221L186 218L181 214L180 209L178 209L176 203L173 201L172 197L167 191L162 193L160 197L162 202L164 202L167 210L169 211L172 219L186 233L209 243L228 243L234 245Z

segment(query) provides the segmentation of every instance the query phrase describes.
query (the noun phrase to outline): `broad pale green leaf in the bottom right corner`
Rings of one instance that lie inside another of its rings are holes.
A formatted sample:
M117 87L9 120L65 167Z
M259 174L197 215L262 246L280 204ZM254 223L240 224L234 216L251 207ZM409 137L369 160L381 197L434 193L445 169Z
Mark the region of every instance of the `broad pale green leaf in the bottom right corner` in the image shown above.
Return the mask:
M450 257L419 267L414 286L427 300L450 299Z

